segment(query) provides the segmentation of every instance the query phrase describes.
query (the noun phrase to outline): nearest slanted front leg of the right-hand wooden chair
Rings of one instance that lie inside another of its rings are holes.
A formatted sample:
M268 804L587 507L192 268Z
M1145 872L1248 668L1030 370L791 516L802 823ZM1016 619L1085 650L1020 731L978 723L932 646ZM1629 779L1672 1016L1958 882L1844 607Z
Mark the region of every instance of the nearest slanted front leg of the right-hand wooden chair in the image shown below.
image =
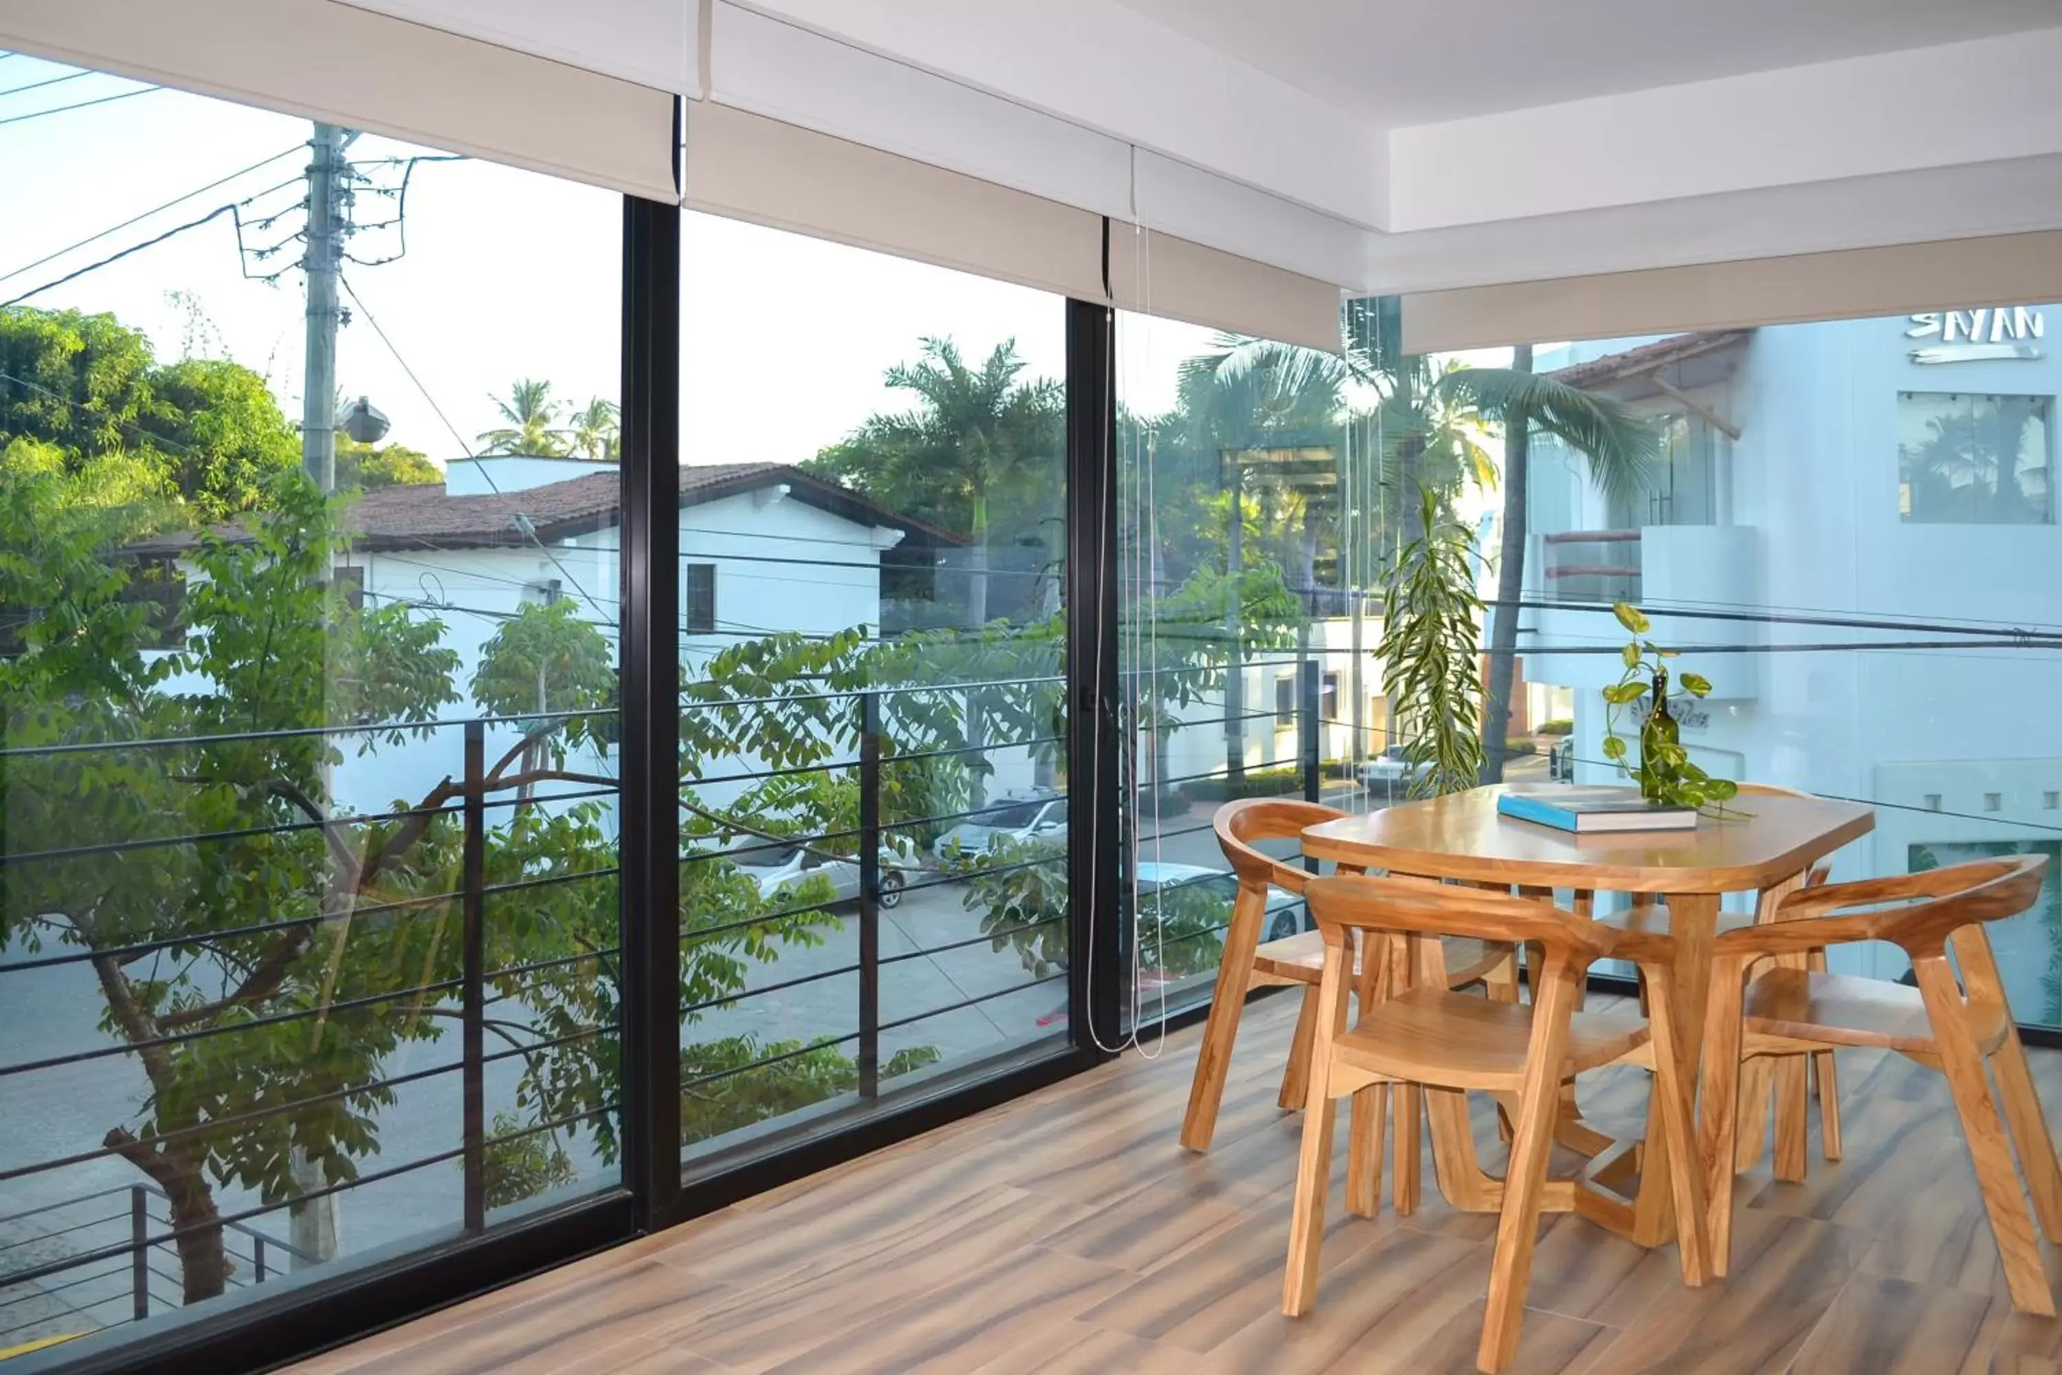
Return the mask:
M2013 1307L2054 1317L2054 1293L2048 1288L2041 1251L2033 1241L2033 1220L2019 1196L2019 1171L2013 1169L2013 1148L2004 1121L1990 1099L1984 1055L1969 1037L1955 971L1949 969L1942 954L1920 954L1911 961L1911 969L1918 973L1920 994L1926 998L1926 1020L1940 1047L1947 1086L1955 1095L1955 1115L1961 1117L1969 1165L1975 1167L1975 1185L1984 1194L1984 1212L1990 1214L1990 1235L1998 1243L1998 1260L2004 1264L2004 1284L2013 1293Z

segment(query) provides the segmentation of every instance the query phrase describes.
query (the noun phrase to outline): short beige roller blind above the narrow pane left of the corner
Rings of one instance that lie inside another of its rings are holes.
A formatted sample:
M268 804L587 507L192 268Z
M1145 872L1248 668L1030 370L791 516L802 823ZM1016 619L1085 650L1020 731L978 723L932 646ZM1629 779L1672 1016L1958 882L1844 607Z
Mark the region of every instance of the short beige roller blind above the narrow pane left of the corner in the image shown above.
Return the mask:
M1338 287L1132 225L1109 225L1109 284L1128 311L1338 353Z

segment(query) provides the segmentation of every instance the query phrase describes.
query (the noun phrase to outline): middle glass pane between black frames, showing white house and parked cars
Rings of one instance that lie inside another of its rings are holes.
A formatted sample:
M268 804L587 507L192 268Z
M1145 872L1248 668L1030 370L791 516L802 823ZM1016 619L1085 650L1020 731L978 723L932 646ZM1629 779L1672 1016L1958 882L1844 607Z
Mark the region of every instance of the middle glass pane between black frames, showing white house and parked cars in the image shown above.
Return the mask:
M689 214L683 317L701 1175L1064 1041L1066 309Z

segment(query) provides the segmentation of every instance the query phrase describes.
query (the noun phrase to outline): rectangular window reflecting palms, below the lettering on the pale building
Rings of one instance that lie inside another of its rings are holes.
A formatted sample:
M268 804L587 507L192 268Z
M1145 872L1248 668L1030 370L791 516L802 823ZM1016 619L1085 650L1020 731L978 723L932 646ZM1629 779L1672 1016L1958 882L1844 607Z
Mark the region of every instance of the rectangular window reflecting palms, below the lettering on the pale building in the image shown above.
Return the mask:
M2043 526L2048 396L1897 394L1897 513L1911 526Z

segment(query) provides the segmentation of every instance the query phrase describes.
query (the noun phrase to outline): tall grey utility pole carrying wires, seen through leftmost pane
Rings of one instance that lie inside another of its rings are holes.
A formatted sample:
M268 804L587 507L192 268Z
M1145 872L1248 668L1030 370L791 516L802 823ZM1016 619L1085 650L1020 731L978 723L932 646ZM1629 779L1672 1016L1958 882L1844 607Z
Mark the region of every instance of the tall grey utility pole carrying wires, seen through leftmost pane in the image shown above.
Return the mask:
M318 124L307 140L307 256L301 270L307 276L307 365L301 375L301 466L324 497L336 491L336 278L344 262L344 237L351 233L351 214L344 204L348 167L344 165L344 130L334 124ZM328 581L328 565L322 579ZM322 765L320 802L328 810L334 800L330 765ZM340 874L330 866L326 888L330 909L336 901ZM338 928L338 936L348 934L348 926ZM340 954L342 950L338 950ZM332 959L334 975L334 959ZM315 1022L322 1035L322 1022ZM289 1208L293 1231L293 1270L320 1266L336 1260L336 1194L322 1194L330 1185L322 1167L301 1148L289 1159L293 1183L299 1194L318 1194Z

